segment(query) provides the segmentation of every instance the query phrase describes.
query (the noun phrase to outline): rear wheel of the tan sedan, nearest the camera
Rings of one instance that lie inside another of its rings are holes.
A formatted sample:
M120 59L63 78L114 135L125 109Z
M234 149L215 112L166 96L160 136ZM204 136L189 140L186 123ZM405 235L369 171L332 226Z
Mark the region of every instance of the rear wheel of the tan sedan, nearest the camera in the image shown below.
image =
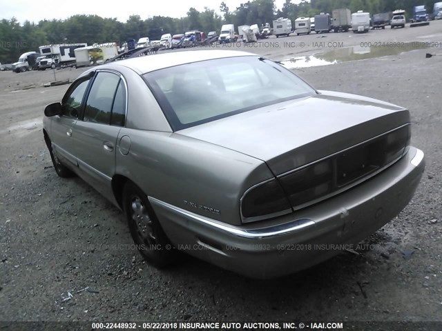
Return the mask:
M152 265L164 268L175 260L175 249L161 228L147 195L128 181L123 189L123 210L138 250Z

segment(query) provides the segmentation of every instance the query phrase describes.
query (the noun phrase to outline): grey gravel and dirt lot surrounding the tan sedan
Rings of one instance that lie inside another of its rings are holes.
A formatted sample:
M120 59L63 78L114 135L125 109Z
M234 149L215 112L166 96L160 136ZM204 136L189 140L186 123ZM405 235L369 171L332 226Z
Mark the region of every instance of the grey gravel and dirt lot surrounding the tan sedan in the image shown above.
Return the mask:
M246 279L191 257L157 270L131 248L122 212L81 179L59 179L52 168L42 112L68 86L43 88L52 71L0 72L0 321L442 321L442 55L425 59L427 52L442 54L442 21L318 37L285 38L305 42L304 48L251 51L281 60L323 52L327 46L314 47L323 40L345 47L439 43L295 70L318 89L411 111L412 144L425 152L427 168L410 205L367 240L370 250L273 281ZM57 79L83 70L57 70ZM93 291L78 292L87 287ZM73 298L63 302L68 292ZM441 330L436 326L431 330Z

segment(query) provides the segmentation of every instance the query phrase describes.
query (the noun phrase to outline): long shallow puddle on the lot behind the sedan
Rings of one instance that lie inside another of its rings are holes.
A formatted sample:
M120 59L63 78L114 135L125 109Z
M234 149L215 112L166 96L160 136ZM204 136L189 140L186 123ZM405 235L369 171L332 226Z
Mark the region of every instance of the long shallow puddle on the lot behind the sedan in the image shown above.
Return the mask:
M422 50L424 48L427 47L423 43L398 43L398 45L396 46L353 46L338 48L337 50L330 50L329 52L321 54L293 57L291 59L283 60L281 61L281 63L287 69L328 66L330 64L336 64L345 61L356 61L363 59L372 59L375 57L398 55L403 52L410 52L410 50Z

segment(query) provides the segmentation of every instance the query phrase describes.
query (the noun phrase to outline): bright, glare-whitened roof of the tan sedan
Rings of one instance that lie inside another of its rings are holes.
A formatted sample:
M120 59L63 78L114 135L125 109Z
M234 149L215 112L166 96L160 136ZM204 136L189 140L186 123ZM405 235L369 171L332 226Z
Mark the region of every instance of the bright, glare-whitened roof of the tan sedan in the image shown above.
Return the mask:
M185 50L177 52L167 52L162 54L153 54L147 57L137 57L134 59L126 59L100 66L101 68L116 69L118 66L131 68L138 74L180 66L186 63L206 61L212 59L222 59L227 57L245 57L258 56L249 52L240 52L237 50Z

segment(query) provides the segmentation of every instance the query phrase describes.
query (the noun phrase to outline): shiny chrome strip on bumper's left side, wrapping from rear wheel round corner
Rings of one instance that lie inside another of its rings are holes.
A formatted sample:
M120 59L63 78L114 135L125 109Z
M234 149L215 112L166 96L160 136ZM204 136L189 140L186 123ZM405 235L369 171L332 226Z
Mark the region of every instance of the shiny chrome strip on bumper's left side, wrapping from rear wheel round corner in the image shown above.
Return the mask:
M213 228L213 230L222 231L225 234L229 234L244 239L267 239L271 237L282 236L285 234L290 234L291 232L300 231L303 228L307 228L309 226L316 224L311 219L296 219L294 221L290 221L289 223L273 225L267 228L244 229L239 226L227 225L220 221L215 221L214 219L209 219L208 217L200 216L198 214L189 212L188 210L184 210L182 208L176 207L175 205L171 205L169 203L155 199L153 197L148 197L148 199L149 201L151 201L153 205L160 205L161 207L166 208L170 212L173 212L173 214L176 214L180 218L191 220L194 221L195 223L209 226Z

